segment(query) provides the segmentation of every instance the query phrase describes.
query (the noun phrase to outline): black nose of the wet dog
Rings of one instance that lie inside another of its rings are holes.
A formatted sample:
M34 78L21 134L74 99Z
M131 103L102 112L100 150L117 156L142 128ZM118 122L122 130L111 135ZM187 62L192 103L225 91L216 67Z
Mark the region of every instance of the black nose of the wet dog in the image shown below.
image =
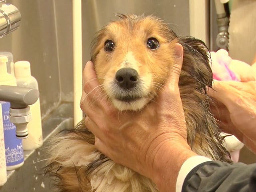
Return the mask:
M116 81L122 88L134 88L137 80L138 72L132 68L122 68L116 72Z

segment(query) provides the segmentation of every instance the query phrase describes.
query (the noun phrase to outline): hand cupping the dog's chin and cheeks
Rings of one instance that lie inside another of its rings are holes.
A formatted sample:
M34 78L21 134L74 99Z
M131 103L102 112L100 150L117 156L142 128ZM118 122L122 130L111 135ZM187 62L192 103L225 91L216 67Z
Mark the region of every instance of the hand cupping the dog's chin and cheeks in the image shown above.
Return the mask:
M141 111L119 112L98 84L91 62L84 69L80 106L95 147L116 163L151 178L161 191L175 191L183 162L196 155L188 146L186 122L178 88L183 48L176 44L176 63L156 100Z

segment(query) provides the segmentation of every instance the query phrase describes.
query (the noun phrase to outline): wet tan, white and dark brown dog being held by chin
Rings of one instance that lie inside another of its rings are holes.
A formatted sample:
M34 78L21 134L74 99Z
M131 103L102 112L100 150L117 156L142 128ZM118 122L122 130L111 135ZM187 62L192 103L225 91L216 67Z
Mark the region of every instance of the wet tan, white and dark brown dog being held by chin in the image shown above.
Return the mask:
M212 71L204 42L177 36L154 16L118 17L96 33L91 50L98 81L112 104L120 111L140 110L154 100L174 63L174 44L179 43L184 49L179 89L188 144L197 154L228 161L206 95ZM150 179L96 150L94 135L83 121L56 136L50 146L46 173L60 192L158 192Z

